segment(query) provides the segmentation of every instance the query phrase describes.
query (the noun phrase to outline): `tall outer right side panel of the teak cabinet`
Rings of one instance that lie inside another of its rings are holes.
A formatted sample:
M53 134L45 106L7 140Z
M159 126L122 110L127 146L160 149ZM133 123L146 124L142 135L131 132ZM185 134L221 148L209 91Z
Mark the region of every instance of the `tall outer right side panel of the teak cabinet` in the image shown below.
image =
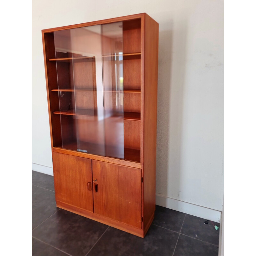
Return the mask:
M145 14L144 62L144 228L156 208L156 114L158 23Z

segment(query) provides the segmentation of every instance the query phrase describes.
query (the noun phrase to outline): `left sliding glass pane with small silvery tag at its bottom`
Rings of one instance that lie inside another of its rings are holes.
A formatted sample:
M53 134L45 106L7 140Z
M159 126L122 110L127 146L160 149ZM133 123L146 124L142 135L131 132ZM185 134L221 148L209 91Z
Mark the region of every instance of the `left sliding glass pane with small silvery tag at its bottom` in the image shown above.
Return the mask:
M54 32L54 44L62 147L104 156L100 25ZM63 70L59 63L65 56Z

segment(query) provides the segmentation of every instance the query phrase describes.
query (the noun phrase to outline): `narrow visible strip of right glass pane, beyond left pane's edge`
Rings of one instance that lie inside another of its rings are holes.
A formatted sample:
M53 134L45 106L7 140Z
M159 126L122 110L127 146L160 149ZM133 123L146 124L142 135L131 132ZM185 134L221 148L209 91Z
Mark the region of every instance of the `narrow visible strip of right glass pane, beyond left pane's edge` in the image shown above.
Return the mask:
M105 152L124 158L124 88L122 22L102 25Z

